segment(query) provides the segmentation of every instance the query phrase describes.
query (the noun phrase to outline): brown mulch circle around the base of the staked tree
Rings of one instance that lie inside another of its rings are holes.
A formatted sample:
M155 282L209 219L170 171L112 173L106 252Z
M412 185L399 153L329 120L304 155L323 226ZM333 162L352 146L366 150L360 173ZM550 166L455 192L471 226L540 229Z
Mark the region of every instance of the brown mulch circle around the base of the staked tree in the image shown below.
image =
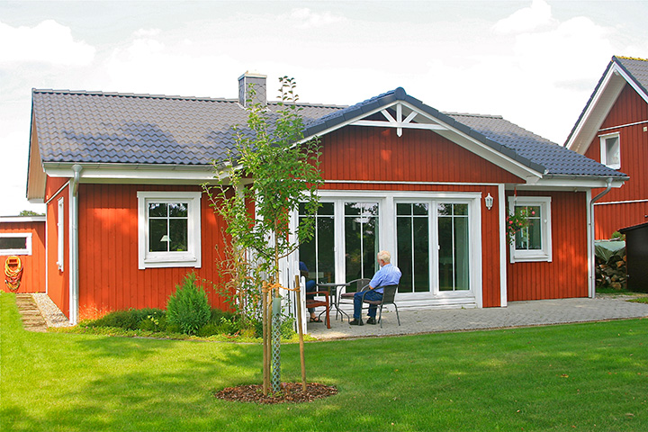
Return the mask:
M338 393L332 385L320 383L306 383L306 392L302 392L302 383L282 383L281 391L267 396L263 395L263 385L250 384L228 387L214 394L218 399L225 401L253 402L253 403L302 403L312 402L316 399L328 398Z

